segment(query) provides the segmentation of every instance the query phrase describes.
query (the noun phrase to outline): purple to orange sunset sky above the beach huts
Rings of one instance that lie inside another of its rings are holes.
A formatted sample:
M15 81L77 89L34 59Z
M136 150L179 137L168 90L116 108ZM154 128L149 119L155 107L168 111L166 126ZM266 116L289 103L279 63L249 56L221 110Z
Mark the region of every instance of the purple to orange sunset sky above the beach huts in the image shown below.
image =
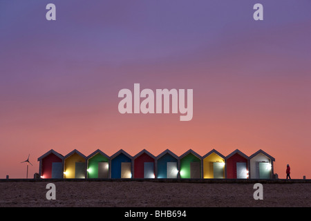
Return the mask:
M46 5L56 21L46 20ZM255 21L255 3L263 21ZM0 179L54 149L259 149L311 178L311 2L0 0ZM194 114L121 114L123 88L193 89Z

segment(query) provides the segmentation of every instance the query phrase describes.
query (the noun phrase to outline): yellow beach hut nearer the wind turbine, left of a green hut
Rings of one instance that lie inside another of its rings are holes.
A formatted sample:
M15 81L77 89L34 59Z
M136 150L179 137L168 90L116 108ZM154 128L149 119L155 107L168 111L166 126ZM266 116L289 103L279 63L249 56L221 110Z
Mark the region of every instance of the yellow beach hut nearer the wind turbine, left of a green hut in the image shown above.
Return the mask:
M86 156L75 149L64 157L64 178L84 179L85 177Z

